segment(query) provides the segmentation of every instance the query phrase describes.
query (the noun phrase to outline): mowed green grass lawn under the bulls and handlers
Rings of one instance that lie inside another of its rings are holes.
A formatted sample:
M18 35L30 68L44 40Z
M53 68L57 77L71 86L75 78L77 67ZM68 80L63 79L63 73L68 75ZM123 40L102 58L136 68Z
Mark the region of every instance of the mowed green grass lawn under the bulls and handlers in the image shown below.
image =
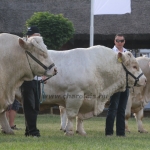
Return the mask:
M143 120L145 128L150 132L150 118ZM0 150L150 150L150 133L137 132L136 121L130 118L130 133L126 137L105 137L105 117L94 117L84 121L86 137L78 134L65 136L60 131L59 115L39 115L38 128L40 138L24 136L24 116L18 114L15 135L0 133ZM75 121L74 121L75 129Z

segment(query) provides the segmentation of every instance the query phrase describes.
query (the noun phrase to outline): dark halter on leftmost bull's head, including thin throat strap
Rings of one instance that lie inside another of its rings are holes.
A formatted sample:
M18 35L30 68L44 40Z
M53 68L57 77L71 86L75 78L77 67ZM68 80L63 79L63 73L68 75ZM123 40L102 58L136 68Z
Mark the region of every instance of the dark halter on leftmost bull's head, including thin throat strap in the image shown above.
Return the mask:
M53 66L55 66L54 63L52 63L49 67L46 67L43 63L41 63L36 57L34 57L29 51L25 51L26 52L26 56L29 55L35 62L37 62L41 67L43 67L46 71L52 69ZM28 59L28 56L27 56L27 59ZM28 63L29 63L29 59L28 59ZM30 65L30 63L29 63ZM31 65L30 65L30 68L31 68ZM31 69L32 71L32 69ZM33 74L33 71L32 71L32 74ZM52 76L51 76L52 77ZM50 77L49 77L50 78ZM48 79L49 79L48 78Z

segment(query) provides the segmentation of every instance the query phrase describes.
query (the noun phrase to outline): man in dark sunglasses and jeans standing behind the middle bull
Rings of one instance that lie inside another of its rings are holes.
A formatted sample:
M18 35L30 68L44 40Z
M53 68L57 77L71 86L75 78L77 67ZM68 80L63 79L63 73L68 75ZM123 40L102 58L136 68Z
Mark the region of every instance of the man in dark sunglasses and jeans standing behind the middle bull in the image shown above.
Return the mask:
M113 50L118 53L124 53L127 50L124 48L125 37L122 34L117 34L114 39ZM125 136L125 109L129 96L129 89L126 88L124 92L118 92L111 96L110 105L106 117L105 135L113 135L114 121L116 117L116 135Z

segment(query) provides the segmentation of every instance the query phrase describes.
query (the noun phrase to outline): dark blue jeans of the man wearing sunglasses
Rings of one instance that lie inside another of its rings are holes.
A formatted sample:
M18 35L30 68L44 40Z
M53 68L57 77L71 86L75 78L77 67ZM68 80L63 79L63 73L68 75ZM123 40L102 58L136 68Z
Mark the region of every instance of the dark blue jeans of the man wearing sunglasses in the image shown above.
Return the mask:
M113 134L114 121L116 117L116 135L125 135L125 109L129 96L129 89L118 92L111 96L110 105L106 117L105 135Z

